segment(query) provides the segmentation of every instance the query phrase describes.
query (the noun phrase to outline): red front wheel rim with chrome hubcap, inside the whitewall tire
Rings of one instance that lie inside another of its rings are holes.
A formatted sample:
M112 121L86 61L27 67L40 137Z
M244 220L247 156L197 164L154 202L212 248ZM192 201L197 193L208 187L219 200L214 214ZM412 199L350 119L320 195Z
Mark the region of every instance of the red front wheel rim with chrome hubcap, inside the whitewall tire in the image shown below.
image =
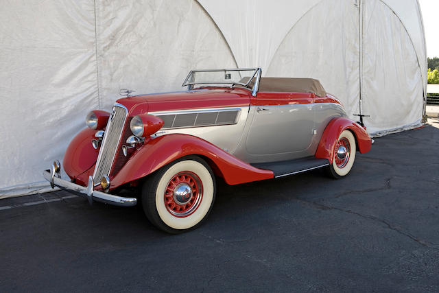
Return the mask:
M169 180L165 189L165 205L171 215L184 218L198 209L202 196L200 178L193 172L184 171Z

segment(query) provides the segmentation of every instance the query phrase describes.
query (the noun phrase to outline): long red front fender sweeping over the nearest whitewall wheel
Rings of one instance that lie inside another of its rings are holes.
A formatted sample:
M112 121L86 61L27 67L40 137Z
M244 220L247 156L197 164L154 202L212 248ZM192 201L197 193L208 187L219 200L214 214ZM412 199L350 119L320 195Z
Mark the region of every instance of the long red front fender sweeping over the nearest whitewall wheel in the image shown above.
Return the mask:
M147 141L112 179L112 189L143 178L164 165L191 154L208 158L229 185L274 178L269 170L252 167L217 146L189 134L166 134ZM209 162L208 162L209 163Z

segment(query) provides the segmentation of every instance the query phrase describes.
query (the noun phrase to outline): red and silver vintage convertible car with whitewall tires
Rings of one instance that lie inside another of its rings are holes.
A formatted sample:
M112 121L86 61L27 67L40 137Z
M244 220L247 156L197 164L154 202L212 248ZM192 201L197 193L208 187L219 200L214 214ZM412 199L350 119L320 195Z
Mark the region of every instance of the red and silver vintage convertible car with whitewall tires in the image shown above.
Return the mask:
M190 71L187 91L123 97L93 110L51 186L93 200L138 200L158 228L179 233L206 219L215 178L229 185L326 167L346 176L371 140L318 80L262 78L261 69ZM129 197L123 196L127 191ZM138 192L137 192L138 191Z

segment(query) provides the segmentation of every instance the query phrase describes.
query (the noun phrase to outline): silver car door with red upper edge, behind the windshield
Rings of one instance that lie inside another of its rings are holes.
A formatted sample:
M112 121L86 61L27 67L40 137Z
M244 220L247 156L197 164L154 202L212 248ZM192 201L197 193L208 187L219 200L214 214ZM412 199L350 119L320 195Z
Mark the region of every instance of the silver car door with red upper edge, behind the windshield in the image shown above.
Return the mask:
M314 132L313 97L312 93L258 93L252 98L248 154L286 154L283 159L309 155Z

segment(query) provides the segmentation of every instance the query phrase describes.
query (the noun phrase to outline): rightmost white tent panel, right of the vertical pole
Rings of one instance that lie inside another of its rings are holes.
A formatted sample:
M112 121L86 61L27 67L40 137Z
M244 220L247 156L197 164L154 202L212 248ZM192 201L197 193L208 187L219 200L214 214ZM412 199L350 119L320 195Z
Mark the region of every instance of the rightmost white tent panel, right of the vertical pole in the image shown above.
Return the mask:
M418 125L427 68L420 67L410 35L381 1L365 1L363 23L361 97L363 112L371 116L368 131L386 134Z

